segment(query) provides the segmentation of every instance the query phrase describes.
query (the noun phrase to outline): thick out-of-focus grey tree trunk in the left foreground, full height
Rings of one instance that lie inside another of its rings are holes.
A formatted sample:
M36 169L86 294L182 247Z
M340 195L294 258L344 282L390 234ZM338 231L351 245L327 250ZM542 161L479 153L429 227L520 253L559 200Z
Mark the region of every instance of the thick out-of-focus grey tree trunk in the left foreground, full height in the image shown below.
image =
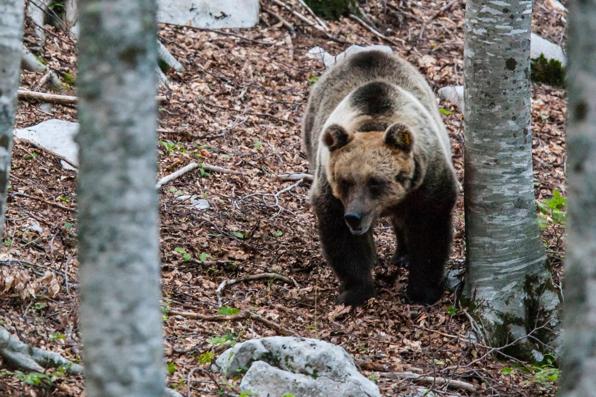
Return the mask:
M155 0L81 0L80 329L89 397L164 393Z

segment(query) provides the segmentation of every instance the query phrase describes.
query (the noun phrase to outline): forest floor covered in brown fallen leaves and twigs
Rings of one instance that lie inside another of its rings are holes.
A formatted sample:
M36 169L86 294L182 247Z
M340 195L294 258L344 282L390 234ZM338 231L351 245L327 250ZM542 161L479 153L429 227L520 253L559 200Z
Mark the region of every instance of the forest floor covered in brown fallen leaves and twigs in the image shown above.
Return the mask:
M299 10L298 2L294 3ZM561 43L564 15L551 10L547 3L534 2L532 30ZM393 43L379 39L351 18L328 22L335 40L329 39L267 0L262 2L265 7L260 25L254 29L209 31L160 25L160 39L187 71L168 71L171 84L160 90L167 100L159 111L159 176L193 161L241 171L233 175L195 170L160 189L169 387L187 395L188 375L198 367L189 395L238 392L232 387L240 380L224 382L211 373L207 361L231 343L279 335L280 328L246 318L195 320L173 315L170 310L201 314L234 314L239 310L277 323L286 334L317 337L343 346L365 376L377 381L382 395L412 395L417 386L429 387L437 396L555 395L555 370L512 361L471 339L470 321L465 308L457 308L454 293L445 292L429 308L405 304L406 274L389 263L395 239L387 221L381 220L375 228L378 298L356 309L334 306L337 282L321 257L315 217L309 208L309 182L282 182L275 177L286 171L308 172L301 149L300 119L312 83L324 72L319 61L305 55L313 46L337 54L350 43L390 45L418 66L435 92L443 86L462 84L465 5L455 0L438 12L446 4L429 0L362 4ZM288 32L265 8L289 21L295 32ZM54 70L76 76L76 52L68 35L48 29L51 34L41 58ZM36 40L30 26L26 39L30 43ZM23 73L21 86L52 92L48 86L38 86L41 73ZM74 95L75 91L63 89L59 93ZM446 110L443 118L462 182L462 114L449 102L441 101L439 107ZM565 195L565 111L563 89L532 86L538 201L551 198L554 190ZM36 102L20 101L17 127L30 127L50 118L76 121L75 106L55 105L54 112L48 114ZM64 170L54 155L15 143L0 261L0 292L4 290L0 322L30 345L80 360L75 178L75 172ZM207 199L212 210L197 211L188 202L177 201L179 195ZM457 233L449 268L462 272L461 197L455 211ZM554 280L560 284L564 230L560 223L550 218L546 221L542 238ZM30 228L36 223L41 229ZM138 249L142 247L131 247ZM290 277L297 284L260 279L229 285L222 293L224 309L218 307L216 290L222 282L270 272ZM464 380L476 385L477 391L378 376L387 371ZM55 379L49 389L23 380L27 379L0 370L0 395L83 395L81 378Z

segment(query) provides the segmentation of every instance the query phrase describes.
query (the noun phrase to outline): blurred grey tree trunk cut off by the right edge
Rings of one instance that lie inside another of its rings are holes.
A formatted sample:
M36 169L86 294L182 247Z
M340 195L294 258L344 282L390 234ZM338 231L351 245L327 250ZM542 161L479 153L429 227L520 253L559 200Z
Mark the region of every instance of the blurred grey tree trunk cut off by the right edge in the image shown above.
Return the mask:
M596 396L596 1L569 7L567 252L561 397Z

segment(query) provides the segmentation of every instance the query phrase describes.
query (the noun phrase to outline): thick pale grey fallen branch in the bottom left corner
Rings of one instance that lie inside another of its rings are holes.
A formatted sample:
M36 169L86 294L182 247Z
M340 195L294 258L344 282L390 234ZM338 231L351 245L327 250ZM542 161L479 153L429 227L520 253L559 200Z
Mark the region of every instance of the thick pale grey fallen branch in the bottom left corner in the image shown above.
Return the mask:
M0 357L14 367L32 372L43 372L45 368L64 367L67 374L79 375L83 366L60 354L26 345L0 327Z

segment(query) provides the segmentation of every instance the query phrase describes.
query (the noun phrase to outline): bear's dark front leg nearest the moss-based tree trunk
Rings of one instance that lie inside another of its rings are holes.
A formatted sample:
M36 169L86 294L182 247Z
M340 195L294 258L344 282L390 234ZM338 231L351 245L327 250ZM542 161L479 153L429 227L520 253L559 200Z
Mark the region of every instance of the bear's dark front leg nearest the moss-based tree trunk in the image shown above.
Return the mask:
M453 233L451 208L421 210L409 215L406 238L409 277L406 296L412 302L432 305L443 293L443 269L449 260Z

